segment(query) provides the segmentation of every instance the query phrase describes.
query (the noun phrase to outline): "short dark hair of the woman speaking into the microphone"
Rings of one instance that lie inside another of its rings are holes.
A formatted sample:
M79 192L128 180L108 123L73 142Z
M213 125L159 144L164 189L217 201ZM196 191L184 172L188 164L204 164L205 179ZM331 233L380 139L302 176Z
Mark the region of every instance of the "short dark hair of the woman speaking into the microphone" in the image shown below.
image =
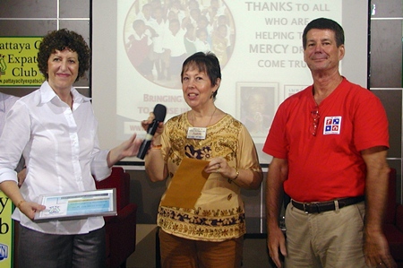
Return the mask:
M205 72L210 78L212 86L217 84L217 79L221 79L221 69L219 67L219 59L212 52L196 52L184 60L181 72L181 82L184 79L184 72L189 70L191 66L196 66L199 72ZM219 89L217 89L219 91ZM213 98L216 97L217 91L214 91Z

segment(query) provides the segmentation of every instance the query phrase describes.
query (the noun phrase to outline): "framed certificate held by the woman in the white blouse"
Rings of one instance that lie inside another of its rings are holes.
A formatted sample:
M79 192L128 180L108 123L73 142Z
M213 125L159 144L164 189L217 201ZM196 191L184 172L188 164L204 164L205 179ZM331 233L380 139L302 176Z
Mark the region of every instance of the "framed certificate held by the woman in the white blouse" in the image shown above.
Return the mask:
M39 203L46 209L35 214L34 220L73 220L90 216L116 215L116 189L40 195Z

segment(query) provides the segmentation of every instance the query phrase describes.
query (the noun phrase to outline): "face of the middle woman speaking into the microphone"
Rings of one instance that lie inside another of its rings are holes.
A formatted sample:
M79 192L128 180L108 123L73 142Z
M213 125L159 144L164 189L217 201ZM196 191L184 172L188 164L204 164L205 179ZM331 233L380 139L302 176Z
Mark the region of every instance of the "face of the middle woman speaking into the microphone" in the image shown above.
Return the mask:
M182 76L182 90L187 105L196 110L208 109L214 103L211 96L218 90L219 82L218 79L213 86L206 72L200 71L196 65L190 65Z

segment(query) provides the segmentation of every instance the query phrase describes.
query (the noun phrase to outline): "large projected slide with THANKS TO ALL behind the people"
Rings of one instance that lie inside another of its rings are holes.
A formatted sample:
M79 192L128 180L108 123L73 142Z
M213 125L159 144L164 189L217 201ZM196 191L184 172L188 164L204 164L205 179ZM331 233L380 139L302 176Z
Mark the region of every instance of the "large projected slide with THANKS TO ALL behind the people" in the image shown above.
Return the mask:
M312 82L302 48L308 22L327 17L345 28L340 72L366 87L367 2L349 1L348 8L343 2L93 1L91 90L101 146L144 134L140 122L158 103L167 106L166 119L187 111L182 63L196 51L212 51L222 72L216 106L246 125L261 162L269 163L262 143L276 109Z

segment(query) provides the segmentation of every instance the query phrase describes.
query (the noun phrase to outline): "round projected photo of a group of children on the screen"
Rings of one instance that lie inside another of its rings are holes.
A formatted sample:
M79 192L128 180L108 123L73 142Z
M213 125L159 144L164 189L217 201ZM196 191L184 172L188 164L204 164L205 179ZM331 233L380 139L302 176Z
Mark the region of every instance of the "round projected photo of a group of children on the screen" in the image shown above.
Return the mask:
M181 89L184 60L212 51L221 68L235 46L235 23L223 0L136 0L124 22L124 47L135 70L150 82Z

